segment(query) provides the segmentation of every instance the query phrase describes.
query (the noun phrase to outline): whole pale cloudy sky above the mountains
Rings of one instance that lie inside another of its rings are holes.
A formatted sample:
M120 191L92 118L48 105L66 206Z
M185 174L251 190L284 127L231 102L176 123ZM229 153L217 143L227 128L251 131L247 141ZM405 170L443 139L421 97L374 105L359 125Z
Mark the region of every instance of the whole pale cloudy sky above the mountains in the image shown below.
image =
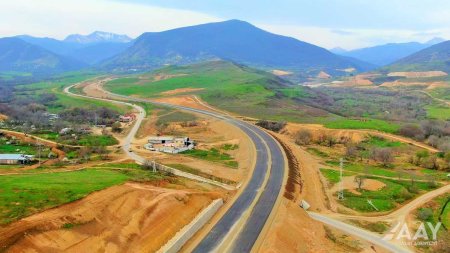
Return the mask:
M0 37L62 39L241 19L325 48L450 39L448 0L1 0Z

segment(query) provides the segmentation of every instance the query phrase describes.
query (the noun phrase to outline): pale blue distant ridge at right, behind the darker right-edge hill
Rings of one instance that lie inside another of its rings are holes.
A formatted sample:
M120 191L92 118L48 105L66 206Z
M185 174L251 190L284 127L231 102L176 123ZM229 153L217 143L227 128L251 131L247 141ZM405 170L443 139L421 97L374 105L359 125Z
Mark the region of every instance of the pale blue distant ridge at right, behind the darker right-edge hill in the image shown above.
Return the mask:
M385 66L442 41L442 39L435 38L426 43L389 43L351 51L336 48L333 49L332 52L343 56L353 57L377 66Z

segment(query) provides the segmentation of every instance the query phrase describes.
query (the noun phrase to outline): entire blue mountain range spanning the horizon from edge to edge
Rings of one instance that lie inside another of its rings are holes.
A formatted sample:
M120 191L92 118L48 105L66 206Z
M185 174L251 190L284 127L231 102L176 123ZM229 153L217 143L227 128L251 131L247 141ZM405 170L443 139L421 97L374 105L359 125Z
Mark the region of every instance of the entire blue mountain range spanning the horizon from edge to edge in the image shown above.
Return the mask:
M442 43L427 48L440 40L423 44L387 44L354 51L335 49L335 54L298 39L264 31L244 21L229 20L148 32L135 40L126 35L99 31L69 35L64 40L27 35L3 38L0 43L0 71L42 74L94 68L134 72L166 65L225 60L266 70L289 71L300 80L322 71L332 76L348 74L345 70L349 69L369 71L376 65L389 62L395 62L393 66L398 69L406 69L408 62L417 67L420 61L426 60L428 66L423 69L447 69L445 45L442 46L444 49L438 46ZM420 54L414 56L414 53ZM436 60L436 53L439 53L439 60ZM414 57L399 60L410 54Z

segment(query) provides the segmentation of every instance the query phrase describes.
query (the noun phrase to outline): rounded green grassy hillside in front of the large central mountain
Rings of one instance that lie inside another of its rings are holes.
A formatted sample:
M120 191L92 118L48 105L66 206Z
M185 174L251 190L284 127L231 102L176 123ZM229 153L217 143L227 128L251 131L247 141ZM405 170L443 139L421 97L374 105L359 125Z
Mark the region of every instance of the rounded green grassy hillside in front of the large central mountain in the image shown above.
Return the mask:
M165 96L164 92L174 89L190 88L195 91L185 93L198 94L214 106L241 115L294 122L338 118L296 101L318 97L313 90L264 71L224 61L167 67L139 77L116 79L106 88L115 93L147 98Z

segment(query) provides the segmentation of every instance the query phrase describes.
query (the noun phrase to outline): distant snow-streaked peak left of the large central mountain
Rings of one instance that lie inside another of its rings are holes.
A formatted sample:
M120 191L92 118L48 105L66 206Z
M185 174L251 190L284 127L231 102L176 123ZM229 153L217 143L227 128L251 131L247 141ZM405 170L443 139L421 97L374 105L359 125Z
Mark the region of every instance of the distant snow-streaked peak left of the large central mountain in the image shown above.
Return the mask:
M100 42L116 42L116 43L127 43L132 39L127 35L95 31L88 35L81 34L71 34L67 36L64 41L65 42L73 42L80 44L91 44L91 43L100 43Z

